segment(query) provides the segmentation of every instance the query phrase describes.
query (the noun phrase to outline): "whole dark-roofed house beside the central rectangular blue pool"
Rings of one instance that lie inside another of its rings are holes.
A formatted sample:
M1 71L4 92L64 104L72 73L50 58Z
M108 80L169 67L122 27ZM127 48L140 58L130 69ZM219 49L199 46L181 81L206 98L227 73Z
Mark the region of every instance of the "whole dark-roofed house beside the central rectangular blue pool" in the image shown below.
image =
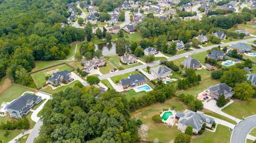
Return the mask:
M135 87L146 81L142 74L130 74L126 79L121 79L120 83L123 88Z

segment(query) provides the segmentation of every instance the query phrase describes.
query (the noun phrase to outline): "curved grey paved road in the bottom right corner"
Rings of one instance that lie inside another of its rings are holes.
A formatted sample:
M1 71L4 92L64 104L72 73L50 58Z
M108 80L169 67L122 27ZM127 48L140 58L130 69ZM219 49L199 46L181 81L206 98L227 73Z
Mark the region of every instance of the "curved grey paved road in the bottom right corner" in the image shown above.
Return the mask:
M246 136L251 129L256 127L256 115L247 117L244 121L238 123L233 130L230 138L231 143L246 142Z

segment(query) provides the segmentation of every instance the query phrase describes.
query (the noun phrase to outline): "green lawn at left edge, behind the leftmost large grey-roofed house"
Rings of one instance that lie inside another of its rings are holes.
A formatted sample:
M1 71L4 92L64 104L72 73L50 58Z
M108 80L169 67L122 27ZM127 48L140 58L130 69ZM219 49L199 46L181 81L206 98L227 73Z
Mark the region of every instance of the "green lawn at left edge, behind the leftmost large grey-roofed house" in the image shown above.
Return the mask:
M12 100L18 98L23 94L23 92L31 91L31 89L20 87L17 85L12 85L11 87L7 88L2 94L0 94L0 104L2 102L11 102Z

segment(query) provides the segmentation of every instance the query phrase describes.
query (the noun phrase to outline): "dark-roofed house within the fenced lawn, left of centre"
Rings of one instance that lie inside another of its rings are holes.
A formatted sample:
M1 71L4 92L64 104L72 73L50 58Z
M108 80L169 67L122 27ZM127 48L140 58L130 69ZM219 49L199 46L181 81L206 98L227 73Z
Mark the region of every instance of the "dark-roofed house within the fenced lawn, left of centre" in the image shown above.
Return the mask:
M48 79L48 83L50 83L52 86L58 86L64 80L66 80L67 83L69 83L74 80L70 76L71 76L71 72L67 70L53 73L52 77Z

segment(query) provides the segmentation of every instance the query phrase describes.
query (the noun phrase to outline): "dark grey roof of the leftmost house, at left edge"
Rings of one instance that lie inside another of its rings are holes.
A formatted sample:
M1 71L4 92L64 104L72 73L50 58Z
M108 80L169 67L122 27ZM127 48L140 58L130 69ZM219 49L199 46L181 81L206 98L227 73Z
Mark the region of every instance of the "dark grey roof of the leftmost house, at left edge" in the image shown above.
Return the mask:
M6 108L20 111L23 107L26 107L27 103L29 103L31 100L36 101L37 98L39 98L39 96L26 94L20 96L18 99L15 99L12 103L7 105Z

